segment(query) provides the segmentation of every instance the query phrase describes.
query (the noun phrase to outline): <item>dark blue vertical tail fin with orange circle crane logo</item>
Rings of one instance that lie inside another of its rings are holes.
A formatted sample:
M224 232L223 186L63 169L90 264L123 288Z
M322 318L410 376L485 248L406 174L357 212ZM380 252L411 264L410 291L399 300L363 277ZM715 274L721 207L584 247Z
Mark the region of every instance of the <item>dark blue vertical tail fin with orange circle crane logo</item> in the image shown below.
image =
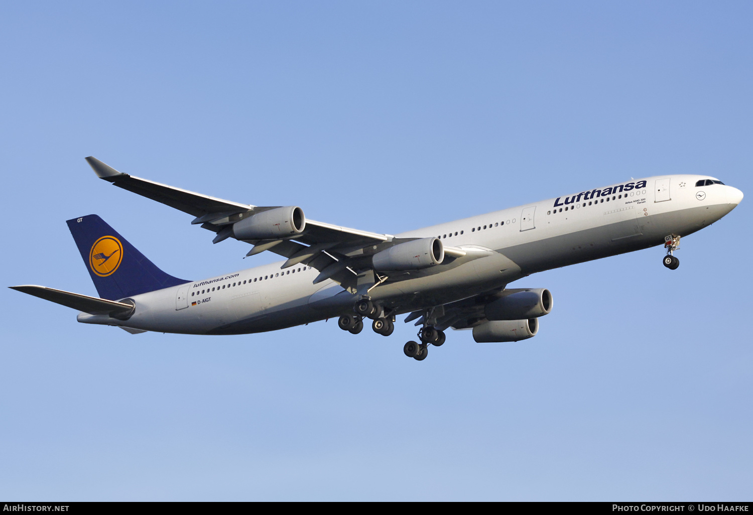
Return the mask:
M170 276L97 215L66 221L99 297L108 300L190 282Z

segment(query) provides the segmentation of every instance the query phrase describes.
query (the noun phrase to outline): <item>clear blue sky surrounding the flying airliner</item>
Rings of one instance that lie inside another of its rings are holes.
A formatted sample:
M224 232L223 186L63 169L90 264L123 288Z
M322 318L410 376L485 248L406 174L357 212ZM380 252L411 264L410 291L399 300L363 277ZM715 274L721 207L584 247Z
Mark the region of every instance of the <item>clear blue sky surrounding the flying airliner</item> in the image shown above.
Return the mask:
M6 2L5 285L96 294L65 220L174 276L245 261L120 171L399 233L630 177L753 192L749 2ZM551 270L539 334L130 335L0 294L0 498L749 500L749 200Z

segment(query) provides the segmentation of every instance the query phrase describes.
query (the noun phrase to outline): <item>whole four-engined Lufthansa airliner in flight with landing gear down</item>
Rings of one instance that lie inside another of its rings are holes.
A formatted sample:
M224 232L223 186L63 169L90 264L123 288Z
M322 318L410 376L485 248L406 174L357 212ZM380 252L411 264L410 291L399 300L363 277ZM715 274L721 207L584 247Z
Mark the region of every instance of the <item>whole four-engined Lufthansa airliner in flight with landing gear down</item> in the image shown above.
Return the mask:
M663 175L624 181L392 236L306 219L297 206L261 207L207 197L118 172L87 157L99 178L193 215L215 233L287 261L200 281L163 272L97 215L68 221L99 297L43 286L15 290L78 309L84 324L136 334L248 334L339 317L358 334L364 318L389 336L410 313L422 361L447 328L475 341L534 337L552 309L546 288L505 288L542 270L664 245L675 270L680 237L719 220L742 192L716 178Z

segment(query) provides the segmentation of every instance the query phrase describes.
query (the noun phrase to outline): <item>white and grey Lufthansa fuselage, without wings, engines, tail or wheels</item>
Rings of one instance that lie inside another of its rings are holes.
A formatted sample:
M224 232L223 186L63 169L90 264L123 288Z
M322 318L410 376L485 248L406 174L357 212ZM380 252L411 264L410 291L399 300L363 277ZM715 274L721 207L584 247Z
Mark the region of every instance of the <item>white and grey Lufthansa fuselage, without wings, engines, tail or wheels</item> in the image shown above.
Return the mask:
M704 179L712 178L631 180L399 234L435 236L448 247L491 249L496 255L397 273L394 282L373 288L370 296L395 303L395 313L425 309L502 288L530 273L660 245L671 234L686 236L742 200L734 187L697 187ZM281 270L282 263L136 295L136 310L127 321L85 313L78 320L169 333L242 334L349 311L354 295L331 280L312 284L318 270L303 265Z

